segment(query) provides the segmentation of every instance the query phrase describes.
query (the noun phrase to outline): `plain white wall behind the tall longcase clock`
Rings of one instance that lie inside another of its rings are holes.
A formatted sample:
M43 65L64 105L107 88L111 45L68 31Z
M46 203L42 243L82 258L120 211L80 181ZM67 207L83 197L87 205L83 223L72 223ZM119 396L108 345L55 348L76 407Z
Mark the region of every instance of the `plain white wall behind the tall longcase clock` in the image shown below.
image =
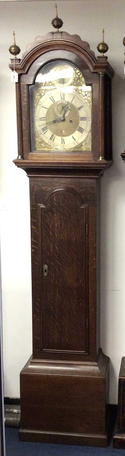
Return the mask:
M8 67L15 30L21 53L52 30L54 2L0 1L0 232L5 396L19 397L19 373L32 351L29 182L16 168L15 84ZM114 165L101 181L101 347L111 359L110 403L117 402L125 356L125 0L58 0L63 30L78 33L97 55L102 28L115 69L112 83Z

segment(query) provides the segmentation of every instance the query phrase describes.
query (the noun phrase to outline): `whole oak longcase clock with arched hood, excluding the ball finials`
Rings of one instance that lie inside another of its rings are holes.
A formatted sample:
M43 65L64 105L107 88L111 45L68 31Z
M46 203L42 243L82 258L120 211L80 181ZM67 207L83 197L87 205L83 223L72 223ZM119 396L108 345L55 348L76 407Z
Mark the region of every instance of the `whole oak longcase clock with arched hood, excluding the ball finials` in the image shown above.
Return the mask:
M99 177L112 164L114 72L107 57L96 58L66 32L38 36L15 69L14 163L30 182L33 322L32 355L20 376L19 437L106 446Z

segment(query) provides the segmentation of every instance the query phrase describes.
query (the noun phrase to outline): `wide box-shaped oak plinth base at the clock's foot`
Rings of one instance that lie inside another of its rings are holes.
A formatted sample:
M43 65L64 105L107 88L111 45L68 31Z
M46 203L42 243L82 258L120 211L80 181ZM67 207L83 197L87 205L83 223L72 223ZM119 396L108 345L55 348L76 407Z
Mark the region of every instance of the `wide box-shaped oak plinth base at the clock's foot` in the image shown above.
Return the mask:
M21 371L20 440L107 446L109 358L35 361Z

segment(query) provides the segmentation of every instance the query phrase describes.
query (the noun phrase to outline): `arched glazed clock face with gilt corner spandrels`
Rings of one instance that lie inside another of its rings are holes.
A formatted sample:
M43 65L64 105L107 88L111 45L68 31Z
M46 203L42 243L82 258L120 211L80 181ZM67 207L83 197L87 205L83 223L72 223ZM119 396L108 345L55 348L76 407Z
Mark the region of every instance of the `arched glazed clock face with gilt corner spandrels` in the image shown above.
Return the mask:
M91 152L91 86L71 62L42 67L29 101L31 152Z

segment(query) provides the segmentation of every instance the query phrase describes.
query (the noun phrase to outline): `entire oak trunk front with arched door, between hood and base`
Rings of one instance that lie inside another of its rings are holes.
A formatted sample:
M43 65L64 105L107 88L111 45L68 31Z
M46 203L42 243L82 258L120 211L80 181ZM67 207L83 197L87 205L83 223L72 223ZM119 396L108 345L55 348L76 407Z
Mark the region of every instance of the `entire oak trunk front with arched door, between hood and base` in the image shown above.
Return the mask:
M97 184L30 178L34 358L97 360Z

